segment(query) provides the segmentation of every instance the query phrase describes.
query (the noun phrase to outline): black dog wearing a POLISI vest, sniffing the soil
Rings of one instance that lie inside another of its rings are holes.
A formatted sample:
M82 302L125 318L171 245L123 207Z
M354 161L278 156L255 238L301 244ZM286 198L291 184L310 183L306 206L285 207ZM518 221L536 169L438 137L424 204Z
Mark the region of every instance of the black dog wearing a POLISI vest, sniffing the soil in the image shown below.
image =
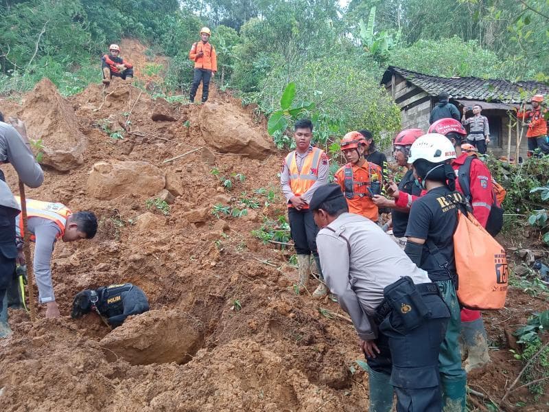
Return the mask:
M143 290L133 284L101 286L95 290L86 289L74 297L73 319L95 310L113 328L121 325L130 314L149 310L149 301Z

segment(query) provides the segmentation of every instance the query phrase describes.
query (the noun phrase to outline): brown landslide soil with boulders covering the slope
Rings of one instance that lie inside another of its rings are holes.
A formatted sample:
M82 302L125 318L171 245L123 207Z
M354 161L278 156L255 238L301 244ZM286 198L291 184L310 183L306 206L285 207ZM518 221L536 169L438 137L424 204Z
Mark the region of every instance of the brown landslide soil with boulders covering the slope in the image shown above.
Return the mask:
M123 54L130 61L144 52L137 42L123 48L134 53ZM64 316L45 319L40 307L32 324L10 310L14 334L0 341L1 409L367 410L352 325L320 314L342 314L337 304L296 296L293 251L250 233L285 214L277 179L285 154L264 119L215 88L207 104L170 104L117 80L68 99L43 80L21 102L0 100L6 116L21 117L43 141L45 183L27 197L90 209L100 220L93 240L56 245L52 273ZM110 137L117 132L124 139ZM12 168L3 170L17 187ZM220 177L232 179L232 190ZM269 190L277 200L266 205ZM166 215L148 207L157 196L170 203ZM214 205L242 209L246 197L260 206L246 216L211 213ZM80 290L123 282L143 288L150 312L112 332L96 314L69 318ZM521 368L504 347L503 327L543 304L513 292L509 310L485 316L502 347L471 385L501 398ZM510 398L533 405L527 391Z

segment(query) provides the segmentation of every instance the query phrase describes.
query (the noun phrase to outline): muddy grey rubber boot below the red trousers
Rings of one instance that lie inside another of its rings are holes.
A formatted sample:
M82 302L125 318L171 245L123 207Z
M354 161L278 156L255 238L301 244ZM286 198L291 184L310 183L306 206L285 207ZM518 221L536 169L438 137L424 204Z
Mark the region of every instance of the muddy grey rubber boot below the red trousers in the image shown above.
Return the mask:
M482 318L461 322L460 341L463 341L463 353L467 356L463 362L463 369L467 373L489 363L488 341Z

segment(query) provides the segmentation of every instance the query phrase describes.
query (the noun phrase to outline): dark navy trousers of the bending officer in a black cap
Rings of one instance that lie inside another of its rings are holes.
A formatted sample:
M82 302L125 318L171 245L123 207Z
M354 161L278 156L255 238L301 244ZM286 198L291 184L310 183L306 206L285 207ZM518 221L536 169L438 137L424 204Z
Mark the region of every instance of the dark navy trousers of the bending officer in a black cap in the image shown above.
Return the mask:
M439 347L449 311L440 295L425 290L420 290L420 294L430 317L417 328L406 330L401 321L403 315L397 311L376 314L378 337L375 343L381 353L375 358L366 356L371 369L390 375L390 384L397 393L399 412L442 410Z

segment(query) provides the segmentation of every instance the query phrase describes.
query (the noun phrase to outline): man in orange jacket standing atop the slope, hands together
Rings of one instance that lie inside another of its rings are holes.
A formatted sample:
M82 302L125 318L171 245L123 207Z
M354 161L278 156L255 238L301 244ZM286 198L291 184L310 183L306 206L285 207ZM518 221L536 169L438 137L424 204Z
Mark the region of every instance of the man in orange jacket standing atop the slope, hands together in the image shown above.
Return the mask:
M200 41L193 43L189 59L194 61L194 79L191 85L189 102L194 103L196 91L202 81L202 103L208 100L210 80L218 71L218 56L215 48L209 43L211 32L208 27L200 30Z

